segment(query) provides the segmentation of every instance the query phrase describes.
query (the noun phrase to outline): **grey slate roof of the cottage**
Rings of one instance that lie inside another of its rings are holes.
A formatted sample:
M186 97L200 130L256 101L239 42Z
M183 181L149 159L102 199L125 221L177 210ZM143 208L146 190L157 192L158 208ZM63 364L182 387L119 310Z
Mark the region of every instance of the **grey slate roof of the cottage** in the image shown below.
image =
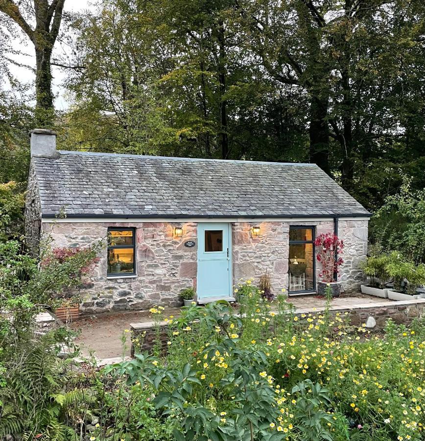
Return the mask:
M32 158L42 216L368 216L314 164L60 151Z

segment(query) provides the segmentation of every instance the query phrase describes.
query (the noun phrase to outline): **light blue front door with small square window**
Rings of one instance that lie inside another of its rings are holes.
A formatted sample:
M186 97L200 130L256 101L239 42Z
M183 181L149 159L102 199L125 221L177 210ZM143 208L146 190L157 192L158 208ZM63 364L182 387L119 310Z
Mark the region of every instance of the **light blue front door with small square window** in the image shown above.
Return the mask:
M232 296L228 223L198 223L198 300Z

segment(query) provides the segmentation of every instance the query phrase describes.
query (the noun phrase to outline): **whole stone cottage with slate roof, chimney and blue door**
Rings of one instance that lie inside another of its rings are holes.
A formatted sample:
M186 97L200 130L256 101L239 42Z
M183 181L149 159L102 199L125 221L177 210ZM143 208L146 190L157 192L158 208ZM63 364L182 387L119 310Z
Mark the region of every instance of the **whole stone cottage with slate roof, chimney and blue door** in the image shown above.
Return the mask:
M169 158L56 150L31 132L28 245L37 252L105 240L83 313L233 299L240 278L270 274L275 293L314 293L314 238L344 240L339 280L362 280L370 213L314 164Z

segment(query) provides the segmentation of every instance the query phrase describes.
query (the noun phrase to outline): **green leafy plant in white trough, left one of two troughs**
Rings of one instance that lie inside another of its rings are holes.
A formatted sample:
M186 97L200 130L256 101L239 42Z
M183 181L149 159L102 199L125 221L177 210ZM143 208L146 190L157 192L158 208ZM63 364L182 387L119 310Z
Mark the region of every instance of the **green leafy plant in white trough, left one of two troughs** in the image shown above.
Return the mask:
M387 271L389 261L388 255L380 254L378 256L369 256L360 264L361 270L369 279L367 285L361 285L361 292L363 294L376 295L383 298L388 297L385 285L389 278Z

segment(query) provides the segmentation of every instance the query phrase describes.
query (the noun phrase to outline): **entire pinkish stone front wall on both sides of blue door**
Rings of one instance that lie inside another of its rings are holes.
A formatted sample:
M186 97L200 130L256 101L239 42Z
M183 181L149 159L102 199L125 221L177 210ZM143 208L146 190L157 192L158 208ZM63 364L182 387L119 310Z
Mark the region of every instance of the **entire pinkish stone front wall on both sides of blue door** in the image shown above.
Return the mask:
M333 232L333 221L236 222L232 224L233 279L270 274L274 294L288 288L289 226L313 225L315 235ZM359 262L367 251L367 221L339 221L339 237L345 242L344 265L339 280L346 292L359 291L362 273ZM102 313L129 309L148 309L154 304L177 306L179 293L196 288L197 224L193 222L61 222L44 223L43 235L55 247L87 246L103 240L108 227L136 228L136 276L107 277L107 250L82 290L83 313ZM174 237L175 227L183 237ZM252 227L260 226L261 235L253 236ZM184 246L186 241L196 246ZM320 280L316 261L316 281Z

